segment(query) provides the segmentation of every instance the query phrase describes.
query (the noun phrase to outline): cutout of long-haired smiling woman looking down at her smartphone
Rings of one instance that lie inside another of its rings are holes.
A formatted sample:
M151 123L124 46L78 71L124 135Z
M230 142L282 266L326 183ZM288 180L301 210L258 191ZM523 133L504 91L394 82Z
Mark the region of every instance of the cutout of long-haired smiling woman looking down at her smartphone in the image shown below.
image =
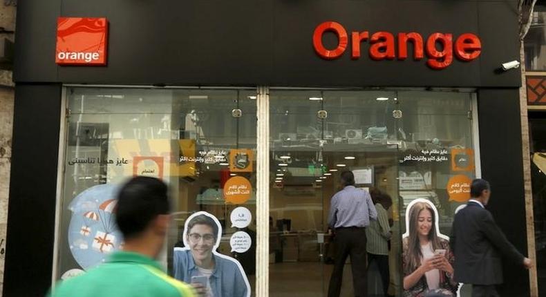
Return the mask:
M408 215L408 236L402 242L404 296L456 296L453 253L449 242L437 235L433 207L417 202Z

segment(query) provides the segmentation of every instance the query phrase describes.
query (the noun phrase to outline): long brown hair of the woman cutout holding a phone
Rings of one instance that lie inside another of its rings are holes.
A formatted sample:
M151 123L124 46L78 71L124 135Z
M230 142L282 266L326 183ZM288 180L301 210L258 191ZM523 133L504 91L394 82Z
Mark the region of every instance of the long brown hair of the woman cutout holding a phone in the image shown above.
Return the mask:
M440 240L438 239L438 235L436 233L436 217L431 205L426 202L417 202L413 204L410 209L410 218L408 222L408 266L411 268L411 271L414 271L421 265L421 258L423 257L423 254L421 253L417 224L419 223L419 214L424 209L429 210L432 216L432 226L431 231L429 232L429 240L431 241L432 249L435 251L441 247Z

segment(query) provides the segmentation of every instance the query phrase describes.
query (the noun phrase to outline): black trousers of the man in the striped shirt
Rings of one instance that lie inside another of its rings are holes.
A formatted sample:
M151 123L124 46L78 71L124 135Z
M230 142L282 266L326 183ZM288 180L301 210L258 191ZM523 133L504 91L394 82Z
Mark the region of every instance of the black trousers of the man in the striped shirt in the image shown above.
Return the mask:
M334 271L328 286L328 297L339 297L343 280L343 266L348 256L350 256L352 287L355 289L355 297L368 296L366 231L364 228L337 228L335 247Z

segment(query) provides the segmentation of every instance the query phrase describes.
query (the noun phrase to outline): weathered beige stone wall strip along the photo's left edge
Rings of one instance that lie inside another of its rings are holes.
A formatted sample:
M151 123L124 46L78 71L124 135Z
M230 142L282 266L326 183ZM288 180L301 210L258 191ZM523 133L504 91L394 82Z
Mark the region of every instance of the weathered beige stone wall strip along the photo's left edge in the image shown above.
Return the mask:
M15 30L15 6L0 5L0 27ZM13 40L12 33L0 33L0 37ZM6 227L8 224L8 200L10 191L11 144L13 129L12 71L0 70L0 287L3 285L3 267L6 251ZM0 290L0 297L2 292Z

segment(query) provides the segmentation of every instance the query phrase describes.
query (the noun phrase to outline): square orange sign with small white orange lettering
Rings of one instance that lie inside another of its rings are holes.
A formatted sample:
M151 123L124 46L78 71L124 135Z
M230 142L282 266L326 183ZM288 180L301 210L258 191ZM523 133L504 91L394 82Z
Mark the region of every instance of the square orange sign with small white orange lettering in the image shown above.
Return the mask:
M108 21L104 17L59 17L57 50L59 65L106 65Z

